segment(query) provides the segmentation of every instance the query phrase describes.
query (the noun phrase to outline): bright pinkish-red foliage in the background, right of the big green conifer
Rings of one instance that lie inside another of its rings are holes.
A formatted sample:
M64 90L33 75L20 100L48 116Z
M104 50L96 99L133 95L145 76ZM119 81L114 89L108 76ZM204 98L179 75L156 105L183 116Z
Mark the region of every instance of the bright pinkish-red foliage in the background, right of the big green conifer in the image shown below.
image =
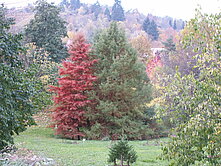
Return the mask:
M155 56L153 59L151 59L146 66L146 72L150 79L153 78L154 72L156 71L157 67L162 67L163 63L161 61L161 58L159 55Z

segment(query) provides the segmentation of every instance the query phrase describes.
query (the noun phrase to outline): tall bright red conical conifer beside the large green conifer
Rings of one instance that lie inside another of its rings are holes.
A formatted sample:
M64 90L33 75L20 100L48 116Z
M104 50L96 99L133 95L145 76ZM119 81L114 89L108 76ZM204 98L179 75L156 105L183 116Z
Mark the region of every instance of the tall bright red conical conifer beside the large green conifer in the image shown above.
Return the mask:
M87 126L85 107L92 105L92 101L86 92L93 89L96 81L92 70L96 60L90 60L89 49L83 35L78 35L69 46L70 57L59 69L59 86L51 86L51 91L56 93L53 98L56 107L52 112L55 134L66 138L79 139L84 136L80 128Z

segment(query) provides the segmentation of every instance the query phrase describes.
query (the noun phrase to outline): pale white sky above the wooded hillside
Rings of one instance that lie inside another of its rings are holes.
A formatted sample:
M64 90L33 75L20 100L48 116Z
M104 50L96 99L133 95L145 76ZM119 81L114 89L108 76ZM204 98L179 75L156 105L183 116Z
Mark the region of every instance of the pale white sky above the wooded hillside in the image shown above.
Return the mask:
M7 7L25 6L36 0L0 0ZM61 0L47 0L48 2L59 3ZM112 6L114 0L80 0L82 3L93 4L99 1L102 5ZM177 19L189 20L194 17L195 9L201 6L205 13L217 13L221 11L221 0L121 0L125 11L138 9L139 12L147 15L151 13L156 16L170 16Z

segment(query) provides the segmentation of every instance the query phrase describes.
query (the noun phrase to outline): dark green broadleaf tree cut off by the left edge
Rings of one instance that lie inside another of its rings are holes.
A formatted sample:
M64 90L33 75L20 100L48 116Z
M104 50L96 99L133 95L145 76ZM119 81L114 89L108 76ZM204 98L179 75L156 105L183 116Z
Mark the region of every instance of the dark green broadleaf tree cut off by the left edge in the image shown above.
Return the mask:
M33 89L26 79L18 58L23 53L21 35L8 32L13 19L6 18L6 9L0 7L0 149L13 143L13 135L34 124Z

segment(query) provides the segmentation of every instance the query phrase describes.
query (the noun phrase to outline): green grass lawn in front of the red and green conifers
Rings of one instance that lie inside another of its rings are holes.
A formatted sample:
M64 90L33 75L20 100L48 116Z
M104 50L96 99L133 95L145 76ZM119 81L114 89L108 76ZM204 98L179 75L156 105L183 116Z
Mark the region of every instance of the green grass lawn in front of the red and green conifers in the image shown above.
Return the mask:
M30 127L15 137L20 148L27 148L37 155L55 160L59 166L107 166L111 141L75 141L56 138L50 128ZM138 159L133 166L164 166L165 161L157 160L161 147L156 141L130 141L137 152ZM110 165L110 164L109 164Z

